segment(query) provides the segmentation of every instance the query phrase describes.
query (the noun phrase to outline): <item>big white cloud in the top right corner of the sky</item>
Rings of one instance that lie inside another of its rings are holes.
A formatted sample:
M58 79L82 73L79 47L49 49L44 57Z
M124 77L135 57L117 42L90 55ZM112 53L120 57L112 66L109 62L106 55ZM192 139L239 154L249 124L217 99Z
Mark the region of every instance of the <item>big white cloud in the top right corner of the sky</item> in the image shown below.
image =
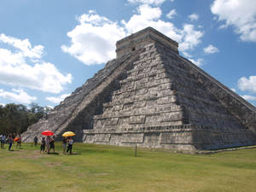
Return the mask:
M212 14L224 20L220 26L235 26L235 32L243 41L256 42L256 1L255 0L215 0L211 6Z

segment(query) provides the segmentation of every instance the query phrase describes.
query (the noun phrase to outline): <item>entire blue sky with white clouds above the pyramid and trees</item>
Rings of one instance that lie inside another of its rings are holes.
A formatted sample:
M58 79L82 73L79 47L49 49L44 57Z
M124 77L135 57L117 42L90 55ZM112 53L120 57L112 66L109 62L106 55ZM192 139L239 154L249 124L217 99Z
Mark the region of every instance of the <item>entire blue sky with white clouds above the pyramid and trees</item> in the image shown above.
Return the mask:
M4 0L0 103L58 105L147 26L256 105L255 0Z

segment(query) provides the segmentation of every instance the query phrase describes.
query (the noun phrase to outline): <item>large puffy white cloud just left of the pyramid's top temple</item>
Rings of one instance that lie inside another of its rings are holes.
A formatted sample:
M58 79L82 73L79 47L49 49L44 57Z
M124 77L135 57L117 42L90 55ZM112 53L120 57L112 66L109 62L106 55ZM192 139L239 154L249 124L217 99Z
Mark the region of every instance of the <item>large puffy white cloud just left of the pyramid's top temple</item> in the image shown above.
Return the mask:
M100 64L115 57L115 43L125 37L123 27L106 17L91 12L79 17L79 25L71 32L71 45L61 49L86 65Z

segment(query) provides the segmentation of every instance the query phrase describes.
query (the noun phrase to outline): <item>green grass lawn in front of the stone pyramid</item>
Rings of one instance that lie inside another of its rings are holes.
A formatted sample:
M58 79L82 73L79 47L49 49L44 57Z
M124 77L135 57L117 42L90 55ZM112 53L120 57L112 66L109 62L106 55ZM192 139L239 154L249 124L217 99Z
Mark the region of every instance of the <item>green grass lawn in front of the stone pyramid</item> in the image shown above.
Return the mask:
M75 143L73 155L30 143L0 150L0 191L256 191L256 148L172 154Z

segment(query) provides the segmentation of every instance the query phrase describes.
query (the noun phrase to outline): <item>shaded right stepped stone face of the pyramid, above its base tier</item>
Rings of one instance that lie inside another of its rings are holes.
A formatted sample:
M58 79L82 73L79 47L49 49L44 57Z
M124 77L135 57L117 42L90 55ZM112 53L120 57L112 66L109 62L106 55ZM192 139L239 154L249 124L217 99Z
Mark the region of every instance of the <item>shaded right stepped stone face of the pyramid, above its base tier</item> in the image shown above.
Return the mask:
M212 91L205 88L208 79L201 79L189 64L167 51L165 47L159 46L159 51L166 64L167 74L177 90L177 100L186 110L190 124L211 125L217 128L246 128L240 119L217 100Z

